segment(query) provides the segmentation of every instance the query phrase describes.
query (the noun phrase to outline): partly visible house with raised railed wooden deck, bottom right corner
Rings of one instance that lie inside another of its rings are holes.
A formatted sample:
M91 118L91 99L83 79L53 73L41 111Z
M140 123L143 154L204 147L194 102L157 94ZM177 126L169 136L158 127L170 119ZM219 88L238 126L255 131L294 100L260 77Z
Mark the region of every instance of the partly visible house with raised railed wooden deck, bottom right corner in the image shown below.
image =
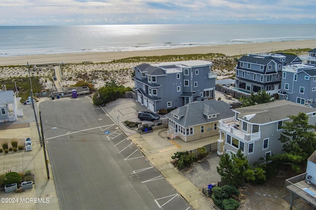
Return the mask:
M285 180L285 189L292 194L290 209L293 198L301 198L316 208L316 150L307 160L306 173Z

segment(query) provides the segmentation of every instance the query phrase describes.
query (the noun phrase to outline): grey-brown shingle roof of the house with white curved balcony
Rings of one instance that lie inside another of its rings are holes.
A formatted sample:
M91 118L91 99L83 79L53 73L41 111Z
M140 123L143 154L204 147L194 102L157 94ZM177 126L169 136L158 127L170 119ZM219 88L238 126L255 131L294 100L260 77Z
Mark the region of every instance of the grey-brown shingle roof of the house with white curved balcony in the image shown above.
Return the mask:
M235 111L238 113L238 119L265 124L288 119L288 116L296 116L300 112L305 114L313 113L316 112L316 109L287 100L277 100L270 103L237 108ZM252 116L253 114L255 115Z

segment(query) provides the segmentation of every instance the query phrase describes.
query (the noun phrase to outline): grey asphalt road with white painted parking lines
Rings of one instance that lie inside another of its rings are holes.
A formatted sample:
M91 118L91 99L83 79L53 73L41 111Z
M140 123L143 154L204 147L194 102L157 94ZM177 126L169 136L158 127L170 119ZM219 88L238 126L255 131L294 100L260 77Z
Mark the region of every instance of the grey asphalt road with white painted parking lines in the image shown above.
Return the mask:
M89 97L39 107L61 209L192 209Z

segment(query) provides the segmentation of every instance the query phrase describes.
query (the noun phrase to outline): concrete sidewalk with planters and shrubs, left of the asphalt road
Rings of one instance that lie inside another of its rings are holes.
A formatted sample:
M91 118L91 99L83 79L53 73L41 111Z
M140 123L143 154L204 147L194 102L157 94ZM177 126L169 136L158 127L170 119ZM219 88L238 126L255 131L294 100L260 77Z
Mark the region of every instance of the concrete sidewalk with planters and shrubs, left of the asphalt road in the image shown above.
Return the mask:
M24 116L23 118L28 117ZM22 120L17 121L16 123L21 121ZM31 170L31 172L35 174L36 183L33 184L32 189L26 189L21 193L5 193L4 189L0 190L1 198L15 199L15 203L2 202L3 204L1 204L1 209L58 210L60 209L60 206L56 196L54 180L51 173L52 171L49 168L50 180L47 180L44 153L43 148L40 147L36 122L34 120L33 122L28 123L29 127L10 129L9 125L7 129L0 130L1 140L10 140L15 138L19 140L19 145L23 145L25 138L32 139L31 151L23 150L16 152L10 151L6 154L4 152L0 153L0 174L4 174L9 171L20 173ZM8 145L9 147L11 146L10 143Z

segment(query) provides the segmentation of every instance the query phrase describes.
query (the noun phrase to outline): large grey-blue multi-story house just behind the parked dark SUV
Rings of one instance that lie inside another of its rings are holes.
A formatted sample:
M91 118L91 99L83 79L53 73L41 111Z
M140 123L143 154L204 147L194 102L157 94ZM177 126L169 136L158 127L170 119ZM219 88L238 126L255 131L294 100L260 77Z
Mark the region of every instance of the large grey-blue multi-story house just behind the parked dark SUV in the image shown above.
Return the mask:
M186 60L133 67L136 101L152 112L215 97L212 62Z

